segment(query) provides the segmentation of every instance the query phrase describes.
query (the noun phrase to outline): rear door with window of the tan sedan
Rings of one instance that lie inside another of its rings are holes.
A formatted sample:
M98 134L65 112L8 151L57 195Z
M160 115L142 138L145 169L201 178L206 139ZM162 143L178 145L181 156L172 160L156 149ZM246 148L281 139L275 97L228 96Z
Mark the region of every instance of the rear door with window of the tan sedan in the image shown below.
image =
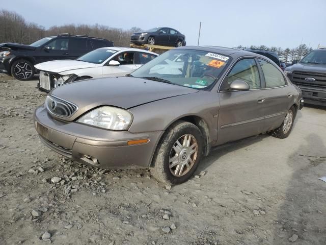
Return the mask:
M263 103L266 117L264 131L269 131L282 124L294 94L292 94L283 72L264 59L257 60L266 84Z

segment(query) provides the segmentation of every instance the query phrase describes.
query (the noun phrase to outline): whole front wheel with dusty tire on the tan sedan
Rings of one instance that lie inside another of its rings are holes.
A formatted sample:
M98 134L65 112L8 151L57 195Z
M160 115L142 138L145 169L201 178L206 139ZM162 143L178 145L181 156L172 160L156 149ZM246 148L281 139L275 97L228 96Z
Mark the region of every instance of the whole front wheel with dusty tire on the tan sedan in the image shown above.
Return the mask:
M150 171L159 182L181 184L194 174L202 153L203 139L198 127L179 120L158 144Z

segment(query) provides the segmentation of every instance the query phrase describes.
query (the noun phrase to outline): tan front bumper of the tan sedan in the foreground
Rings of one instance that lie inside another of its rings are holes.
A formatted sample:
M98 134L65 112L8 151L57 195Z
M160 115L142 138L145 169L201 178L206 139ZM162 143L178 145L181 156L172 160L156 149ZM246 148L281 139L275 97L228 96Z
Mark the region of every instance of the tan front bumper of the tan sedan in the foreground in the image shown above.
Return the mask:
M164 132L130 133L65 122L52 118L44 105L35 110L34 124L48 148L79 163L100 168L148 167ZM128 140L144 138L149 138L149 142L127 145Z

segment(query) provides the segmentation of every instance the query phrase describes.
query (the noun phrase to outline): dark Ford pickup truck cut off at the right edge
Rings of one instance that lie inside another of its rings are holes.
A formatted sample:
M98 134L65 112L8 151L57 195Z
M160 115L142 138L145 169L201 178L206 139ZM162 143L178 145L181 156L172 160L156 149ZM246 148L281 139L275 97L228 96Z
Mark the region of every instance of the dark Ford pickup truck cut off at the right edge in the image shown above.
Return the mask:
M326 49L313 50L301 61L294 60L284 72L301 88L305 104L326 106Z

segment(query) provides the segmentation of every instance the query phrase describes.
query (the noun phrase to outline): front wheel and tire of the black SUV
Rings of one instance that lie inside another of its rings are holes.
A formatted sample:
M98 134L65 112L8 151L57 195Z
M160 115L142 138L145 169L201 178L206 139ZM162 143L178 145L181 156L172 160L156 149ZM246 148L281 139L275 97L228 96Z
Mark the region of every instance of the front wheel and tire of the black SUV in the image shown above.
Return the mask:
M30 80L34 77L34 65L28 60L16 60L10 68L11 75L20 81Z

